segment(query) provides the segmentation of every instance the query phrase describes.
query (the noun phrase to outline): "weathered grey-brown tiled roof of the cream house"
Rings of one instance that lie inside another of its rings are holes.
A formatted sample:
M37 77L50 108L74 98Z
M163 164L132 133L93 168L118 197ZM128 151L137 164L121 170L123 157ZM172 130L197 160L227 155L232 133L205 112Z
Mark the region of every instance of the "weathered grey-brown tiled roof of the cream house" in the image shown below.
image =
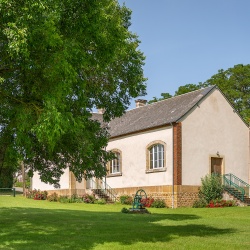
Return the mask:
M111 138L177 122L214 88L216 86L128 110L110 121ZM93 118L101 121L102 115L93 114Z

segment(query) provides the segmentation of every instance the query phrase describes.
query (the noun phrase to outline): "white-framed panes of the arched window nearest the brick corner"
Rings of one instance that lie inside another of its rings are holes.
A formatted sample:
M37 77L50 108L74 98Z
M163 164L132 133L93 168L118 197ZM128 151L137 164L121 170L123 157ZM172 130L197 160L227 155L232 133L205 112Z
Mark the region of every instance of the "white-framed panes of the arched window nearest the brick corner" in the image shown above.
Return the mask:
M164 167L164 145L153 145L149 150L150 157L150 169L163 168Z

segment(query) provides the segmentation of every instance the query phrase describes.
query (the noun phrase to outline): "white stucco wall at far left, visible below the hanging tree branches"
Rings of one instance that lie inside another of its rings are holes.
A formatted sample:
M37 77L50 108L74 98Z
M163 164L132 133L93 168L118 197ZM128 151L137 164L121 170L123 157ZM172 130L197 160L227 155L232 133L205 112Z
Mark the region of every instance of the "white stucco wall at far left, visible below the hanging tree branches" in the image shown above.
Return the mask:
M61 176L60 179L60 189L69 189L69 169L65 169L64 174ZM32 189L39 189L39 190L58 190L58 188L54 188L53 185L46 184L40 180L40 176L38 172L34 173L32 178Z

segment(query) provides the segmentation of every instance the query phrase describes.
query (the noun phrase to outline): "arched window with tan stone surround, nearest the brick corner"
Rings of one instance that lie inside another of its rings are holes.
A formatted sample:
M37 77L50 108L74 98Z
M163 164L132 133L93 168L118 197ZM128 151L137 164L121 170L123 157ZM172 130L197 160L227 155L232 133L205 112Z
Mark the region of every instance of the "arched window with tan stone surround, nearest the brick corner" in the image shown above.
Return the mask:
M166 171L166 143L153 141L146 148L146 173Z

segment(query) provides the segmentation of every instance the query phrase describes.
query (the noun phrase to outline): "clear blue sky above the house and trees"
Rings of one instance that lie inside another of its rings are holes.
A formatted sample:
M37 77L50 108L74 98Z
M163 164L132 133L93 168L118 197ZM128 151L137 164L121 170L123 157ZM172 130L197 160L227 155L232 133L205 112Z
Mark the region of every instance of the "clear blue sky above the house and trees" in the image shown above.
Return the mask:
M250 0L119 0L146 56L147 96L174 94L219 69L250 63ZM132 102L130 108L134 108Z

